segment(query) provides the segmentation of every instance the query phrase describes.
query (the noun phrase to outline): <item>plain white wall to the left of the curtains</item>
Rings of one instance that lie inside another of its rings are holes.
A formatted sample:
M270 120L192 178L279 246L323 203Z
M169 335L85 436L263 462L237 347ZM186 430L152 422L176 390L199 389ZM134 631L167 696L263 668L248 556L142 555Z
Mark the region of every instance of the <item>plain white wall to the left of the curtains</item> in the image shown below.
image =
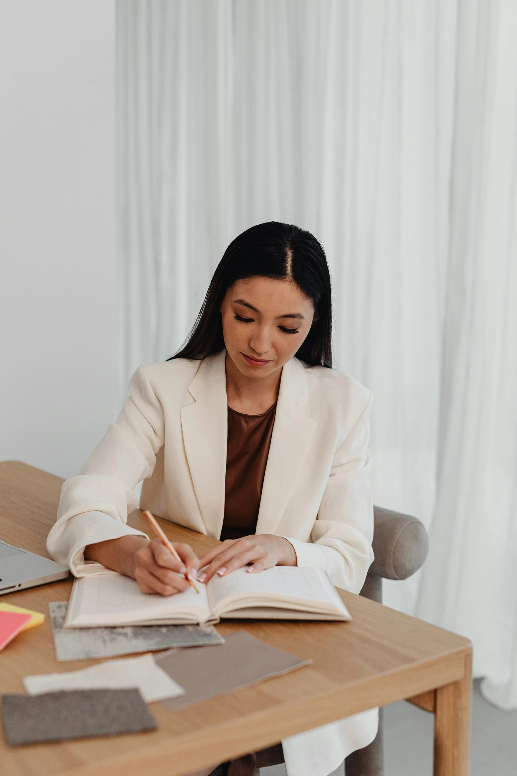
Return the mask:
M0 459L71 476L116 416L115 0L0 2Z

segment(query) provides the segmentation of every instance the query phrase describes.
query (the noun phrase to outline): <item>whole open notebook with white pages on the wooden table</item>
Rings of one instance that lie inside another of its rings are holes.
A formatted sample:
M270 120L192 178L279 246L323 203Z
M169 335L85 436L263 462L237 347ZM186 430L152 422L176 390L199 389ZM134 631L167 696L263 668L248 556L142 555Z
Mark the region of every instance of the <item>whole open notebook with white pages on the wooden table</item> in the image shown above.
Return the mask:
M274 566L239 569L164 598L141 593L135 580L106 573L74 581L64 628L95 625L212 625L219 618L350 620L324 571Z

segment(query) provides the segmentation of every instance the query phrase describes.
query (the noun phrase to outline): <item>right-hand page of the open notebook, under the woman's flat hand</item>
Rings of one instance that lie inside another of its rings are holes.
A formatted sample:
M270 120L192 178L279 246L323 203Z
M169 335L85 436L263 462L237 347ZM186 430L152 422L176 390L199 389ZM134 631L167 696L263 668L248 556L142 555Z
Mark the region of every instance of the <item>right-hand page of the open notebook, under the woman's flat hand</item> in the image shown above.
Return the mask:
M240 594L251 594L253 598L274 594L290 600L339 605L334 597L336 592L325 574L318 569L300 566L273 566L258 573L248 573L244 567L226 577L215 575L209 581L208 592L211 611L225 599Z

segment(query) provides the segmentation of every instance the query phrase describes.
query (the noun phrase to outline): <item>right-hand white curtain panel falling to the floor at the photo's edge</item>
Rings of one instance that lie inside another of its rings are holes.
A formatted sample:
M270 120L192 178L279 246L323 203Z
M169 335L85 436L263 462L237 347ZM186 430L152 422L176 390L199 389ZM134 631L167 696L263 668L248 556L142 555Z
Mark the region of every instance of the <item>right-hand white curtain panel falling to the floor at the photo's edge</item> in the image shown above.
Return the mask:
M418 613L517 708L517 3L461 0L436 514Z

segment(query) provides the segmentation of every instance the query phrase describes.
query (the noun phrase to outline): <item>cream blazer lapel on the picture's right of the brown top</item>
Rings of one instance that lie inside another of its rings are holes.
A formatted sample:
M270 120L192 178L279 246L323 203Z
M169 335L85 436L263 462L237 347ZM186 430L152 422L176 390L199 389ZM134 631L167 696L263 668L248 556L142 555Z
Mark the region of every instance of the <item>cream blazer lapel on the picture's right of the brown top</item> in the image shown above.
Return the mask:
M275 532L302 472L317 426L311 417L300 414L307 398L305 370L297 359L291 359L282 371L257 534Z

